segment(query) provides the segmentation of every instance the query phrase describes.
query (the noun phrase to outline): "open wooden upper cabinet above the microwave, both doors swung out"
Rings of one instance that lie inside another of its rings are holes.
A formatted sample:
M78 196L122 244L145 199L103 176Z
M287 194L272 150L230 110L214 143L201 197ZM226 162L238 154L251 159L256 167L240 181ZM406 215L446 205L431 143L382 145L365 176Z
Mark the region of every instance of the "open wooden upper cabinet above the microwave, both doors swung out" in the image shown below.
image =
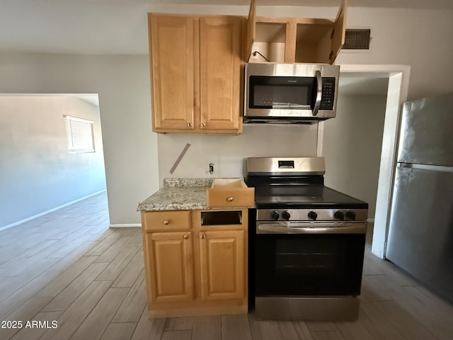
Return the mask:
M333 64L345 40L346 0L335 20L256 16L255 0L248 14L246 60ZM252 50L253 47L253 50Z

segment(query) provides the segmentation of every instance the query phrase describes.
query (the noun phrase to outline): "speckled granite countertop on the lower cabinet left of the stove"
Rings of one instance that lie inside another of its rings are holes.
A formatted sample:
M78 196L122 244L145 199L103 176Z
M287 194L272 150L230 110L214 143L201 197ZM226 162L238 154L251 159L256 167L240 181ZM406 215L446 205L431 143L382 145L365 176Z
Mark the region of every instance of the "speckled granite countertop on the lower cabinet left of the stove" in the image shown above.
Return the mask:
M137 211L207 209L206 189L214 179L164 179L164 186L139 203Z

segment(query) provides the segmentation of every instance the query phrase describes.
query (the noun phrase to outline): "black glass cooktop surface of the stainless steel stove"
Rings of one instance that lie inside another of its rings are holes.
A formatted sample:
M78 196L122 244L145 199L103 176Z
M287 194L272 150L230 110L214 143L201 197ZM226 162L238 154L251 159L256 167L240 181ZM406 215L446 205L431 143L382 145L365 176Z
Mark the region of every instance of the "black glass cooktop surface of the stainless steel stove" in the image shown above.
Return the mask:
M368 208L364 201L326 186L256 186L255 201L258 209Z

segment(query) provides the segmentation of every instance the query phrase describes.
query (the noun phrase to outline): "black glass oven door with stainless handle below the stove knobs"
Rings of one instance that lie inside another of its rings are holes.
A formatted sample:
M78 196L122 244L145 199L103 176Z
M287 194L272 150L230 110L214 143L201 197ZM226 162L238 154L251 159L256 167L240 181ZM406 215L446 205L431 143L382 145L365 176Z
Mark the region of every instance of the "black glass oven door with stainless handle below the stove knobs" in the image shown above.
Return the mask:
M366 223L257 222L256 296L360 295Z

